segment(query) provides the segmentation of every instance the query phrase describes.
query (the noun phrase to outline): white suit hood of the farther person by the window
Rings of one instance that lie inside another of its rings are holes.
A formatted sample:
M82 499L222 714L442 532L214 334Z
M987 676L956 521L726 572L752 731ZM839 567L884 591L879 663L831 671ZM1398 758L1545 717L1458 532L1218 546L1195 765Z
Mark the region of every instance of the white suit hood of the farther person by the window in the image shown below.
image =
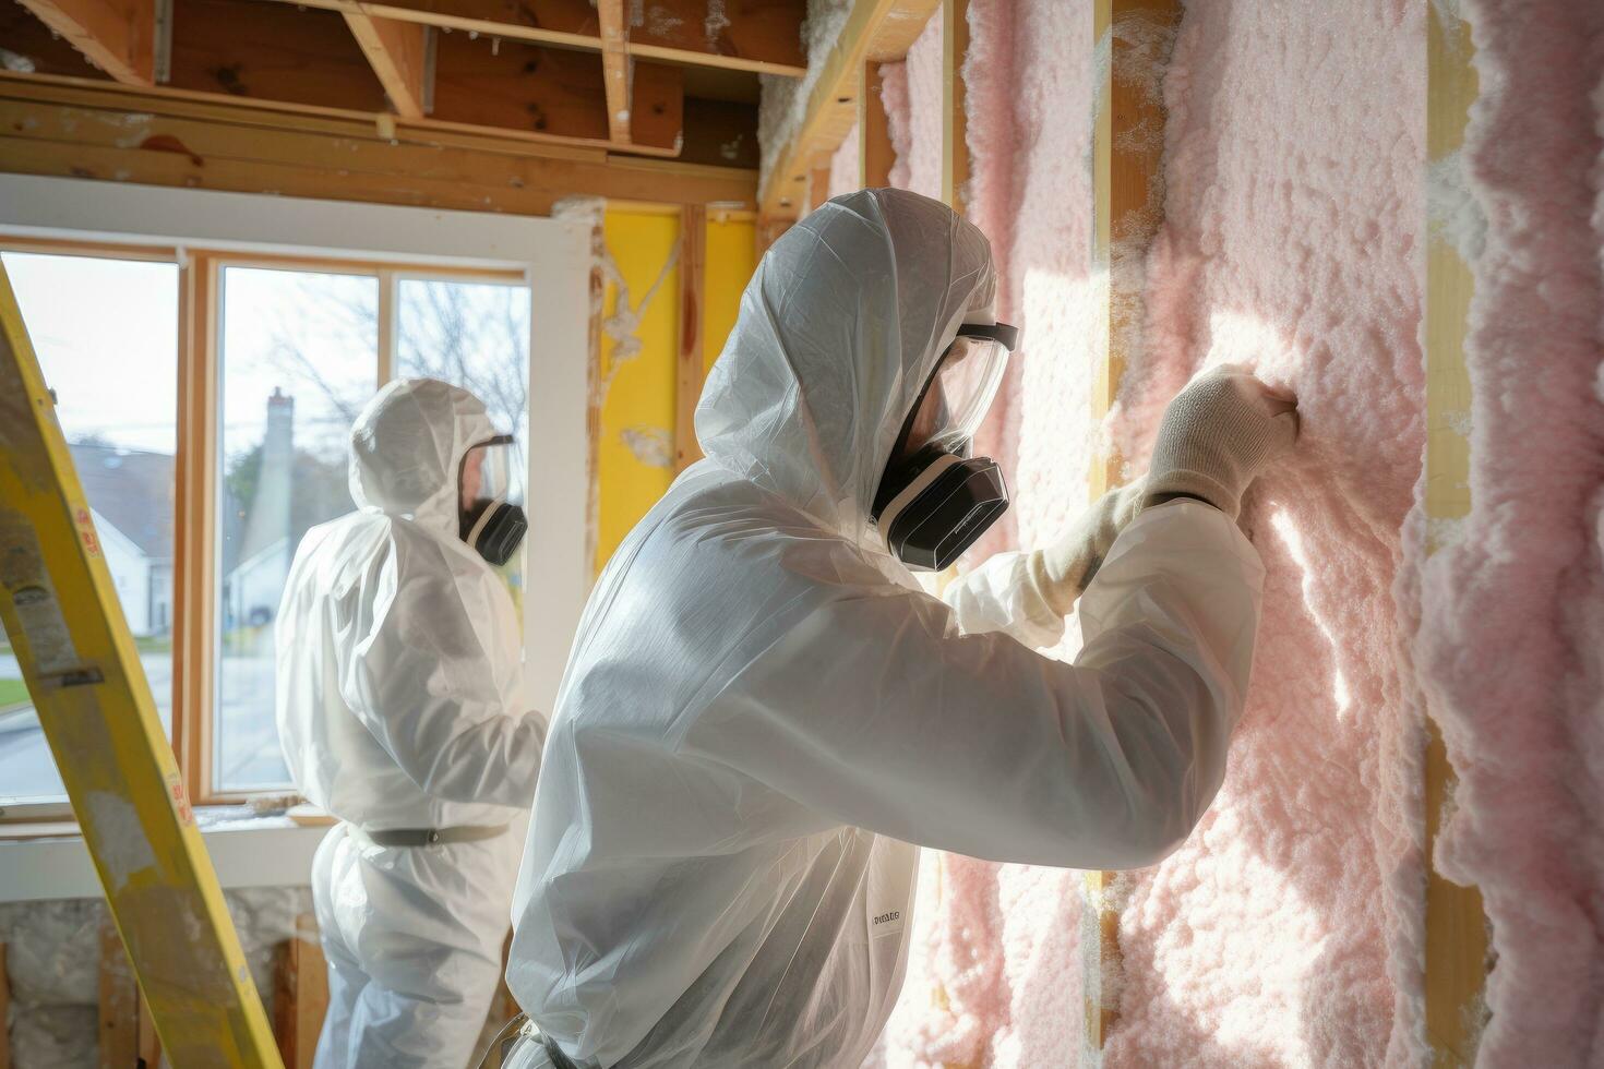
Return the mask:
M351 425L351 498L457 537L462 457L496 436L484 402L435 378L398 378Z

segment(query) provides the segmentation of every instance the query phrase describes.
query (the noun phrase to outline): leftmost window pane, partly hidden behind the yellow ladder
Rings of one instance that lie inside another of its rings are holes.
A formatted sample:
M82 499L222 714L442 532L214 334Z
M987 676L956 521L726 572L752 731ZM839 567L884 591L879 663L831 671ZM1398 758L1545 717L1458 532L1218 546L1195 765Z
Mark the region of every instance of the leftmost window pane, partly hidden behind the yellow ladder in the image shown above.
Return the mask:
M95 514L124 619L172 734L178 268L3 253ZM0 805L64 798L0 633Z

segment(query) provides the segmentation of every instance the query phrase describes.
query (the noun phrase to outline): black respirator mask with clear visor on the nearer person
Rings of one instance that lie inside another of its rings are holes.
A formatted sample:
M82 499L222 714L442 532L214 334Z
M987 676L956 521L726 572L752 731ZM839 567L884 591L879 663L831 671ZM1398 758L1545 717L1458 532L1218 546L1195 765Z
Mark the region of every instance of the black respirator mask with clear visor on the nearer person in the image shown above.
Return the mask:
M969 449L1017 341L1007 324L961 325L897 436L873 516L913 571L950 567L1007 511L1003 470Z

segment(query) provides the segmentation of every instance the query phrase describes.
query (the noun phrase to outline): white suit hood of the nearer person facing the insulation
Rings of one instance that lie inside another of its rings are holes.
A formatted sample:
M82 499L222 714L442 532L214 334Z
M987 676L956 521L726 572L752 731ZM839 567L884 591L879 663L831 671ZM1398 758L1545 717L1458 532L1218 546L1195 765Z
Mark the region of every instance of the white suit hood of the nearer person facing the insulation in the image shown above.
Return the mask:
M696 407L703 452L821 524L877 547L871 506L897 434L970 313L991 247L938 200L865 189L764 256Z

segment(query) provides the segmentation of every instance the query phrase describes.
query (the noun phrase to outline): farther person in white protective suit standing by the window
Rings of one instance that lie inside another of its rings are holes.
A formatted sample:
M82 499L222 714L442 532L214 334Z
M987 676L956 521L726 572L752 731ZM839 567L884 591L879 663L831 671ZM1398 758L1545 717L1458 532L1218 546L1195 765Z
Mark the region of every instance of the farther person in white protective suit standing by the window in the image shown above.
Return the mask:
M460 1069L484 1027L545 736L491 567L523 537L516 474L478 397L391 381L351 428L358 510L295 555L279 739L295 787L340 819L311 877L318 1069Z

